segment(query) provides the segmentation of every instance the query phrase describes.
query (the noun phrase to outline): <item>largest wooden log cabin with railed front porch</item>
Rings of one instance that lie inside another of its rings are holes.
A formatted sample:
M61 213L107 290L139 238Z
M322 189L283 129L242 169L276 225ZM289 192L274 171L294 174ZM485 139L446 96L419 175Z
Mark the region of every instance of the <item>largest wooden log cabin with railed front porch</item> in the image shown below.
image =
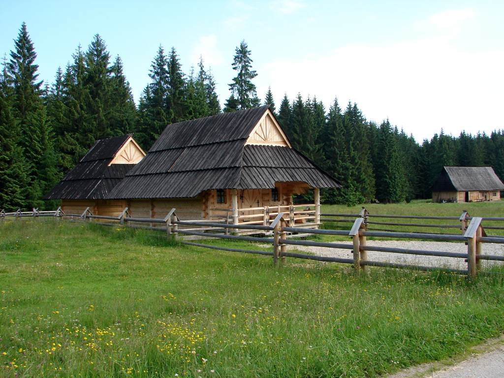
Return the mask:
M132 217L267 224L278 212L318 227L320 188L339 182L292 148L268 106L170 124L108 195ZM312 204L293 195L313 190Z

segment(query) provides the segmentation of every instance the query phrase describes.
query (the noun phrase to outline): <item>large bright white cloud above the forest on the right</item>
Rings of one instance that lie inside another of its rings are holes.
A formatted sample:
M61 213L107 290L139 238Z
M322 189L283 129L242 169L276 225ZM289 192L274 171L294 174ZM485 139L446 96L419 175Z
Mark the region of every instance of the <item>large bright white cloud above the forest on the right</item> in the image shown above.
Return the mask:
M334 96L345 96L341 107L355 101L369 119L390 117L421 142L441 128L454 135L503 128L492 113L504 103L503 66L502 48L470 52L429 38L271 61L258 68L258 84L260 93L271 85L278 100L284 91L291 100L300 91L329 106Z

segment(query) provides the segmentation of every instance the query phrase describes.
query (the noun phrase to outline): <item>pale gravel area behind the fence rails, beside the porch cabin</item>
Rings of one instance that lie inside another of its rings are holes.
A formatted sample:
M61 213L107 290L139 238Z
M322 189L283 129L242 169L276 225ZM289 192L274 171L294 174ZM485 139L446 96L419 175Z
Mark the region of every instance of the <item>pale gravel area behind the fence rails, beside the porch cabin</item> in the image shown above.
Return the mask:
M338 243L344 243L349 245L352 244L352 242L345 242L345 241L338 241ZM465 245L464 243L450 243L443 241L367 240L367 245L467 253L467 245ZM290 249L295 248L298 250L309 251L319 256L341 257L348 259L351 259L353 256L351 249L300 246L300 245L289 245L289 247ZM504 256L504 244L485 243L482 246L482 255ZM367 259L372 261L413 264L426 267L467 269L467 263L464 261L465 259L450 258L450 257L418 256L418 255L405 255L405 254L396 254L388 252L367 251ZM491 264L502 264L502 262L486 261L486 260L482 260L481 262L481 265L483 267Z

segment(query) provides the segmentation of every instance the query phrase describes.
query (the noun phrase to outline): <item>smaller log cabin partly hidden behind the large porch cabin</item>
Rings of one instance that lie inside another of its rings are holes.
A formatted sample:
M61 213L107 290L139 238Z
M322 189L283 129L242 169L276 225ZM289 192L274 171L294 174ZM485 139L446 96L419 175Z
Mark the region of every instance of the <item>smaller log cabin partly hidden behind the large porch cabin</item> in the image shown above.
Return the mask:
M61 200L66 214L118 215L125 201L107 196L144 156L132 134L98 140L45 199Z

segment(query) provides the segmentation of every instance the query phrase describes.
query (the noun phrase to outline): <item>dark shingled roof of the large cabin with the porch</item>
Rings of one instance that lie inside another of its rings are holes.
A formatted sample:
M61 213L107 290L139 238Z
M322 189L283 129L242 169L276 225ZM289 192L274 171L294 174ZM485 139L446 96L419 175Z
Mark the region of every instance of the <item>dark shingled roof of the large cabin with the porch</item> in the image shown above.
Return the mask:
M168 125L108 199L187 198L212 189L273 188L277 181L340 187L295 149L245 146L267 109L261 106Z

